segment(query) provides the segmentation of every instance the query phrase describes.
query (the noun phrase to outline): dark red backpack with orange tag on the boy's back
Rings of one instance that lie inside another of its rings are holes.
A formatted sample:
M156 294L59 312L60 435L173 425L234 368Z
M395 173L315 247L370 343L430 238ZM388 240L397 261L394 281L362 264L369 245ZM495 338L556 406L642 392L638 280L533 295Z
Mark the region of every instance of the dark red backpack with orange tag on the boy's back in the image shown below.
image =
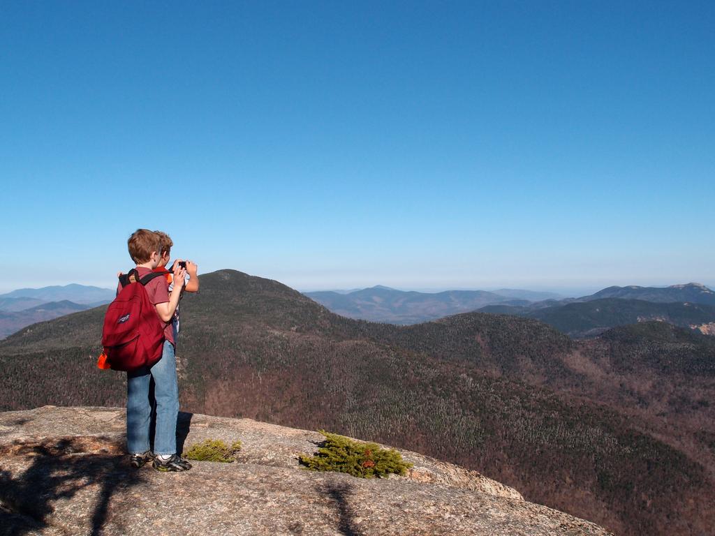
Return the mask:
M144 286L163 275L153 272L139 278L139 272L131 269L119 277L122 290L104 315L99 368L132 371L151 367L162 358L164 323Z

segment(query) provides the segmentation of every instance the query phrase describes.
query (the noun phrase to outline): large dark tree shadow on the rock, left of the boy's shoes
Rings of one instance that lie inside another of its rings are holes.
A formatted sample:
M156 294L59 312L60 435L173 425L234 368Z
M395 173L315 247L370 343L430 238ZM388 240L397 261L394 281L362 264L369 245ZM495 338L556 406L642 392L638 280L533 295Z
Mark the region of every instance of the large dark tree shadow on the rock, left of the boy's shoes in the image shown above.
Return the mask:
M0 471L0 535L19 536L48 527L56 500L92 486L97 499L87 512L87 532L99 535L114 491L142 481L140 472L129 467L122 445L102 437L15 442L0 455L32 460L21 475Z

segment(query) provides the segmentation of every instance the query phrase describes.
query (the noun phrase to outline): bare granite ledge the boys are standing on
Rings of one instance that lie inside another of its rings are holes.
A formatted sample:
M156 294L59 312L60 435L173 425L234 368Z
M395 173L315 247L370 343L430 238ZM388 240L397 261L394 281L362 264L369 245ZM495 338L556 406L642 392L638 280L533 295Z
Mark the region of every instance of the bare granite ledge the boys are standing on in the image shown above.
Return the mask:
M235 463L129 467L124 410L0 413L1 535L608 535L478 472L400 450L405 477L365 480L297 462L324 437L182 413L179 442L241 440Z

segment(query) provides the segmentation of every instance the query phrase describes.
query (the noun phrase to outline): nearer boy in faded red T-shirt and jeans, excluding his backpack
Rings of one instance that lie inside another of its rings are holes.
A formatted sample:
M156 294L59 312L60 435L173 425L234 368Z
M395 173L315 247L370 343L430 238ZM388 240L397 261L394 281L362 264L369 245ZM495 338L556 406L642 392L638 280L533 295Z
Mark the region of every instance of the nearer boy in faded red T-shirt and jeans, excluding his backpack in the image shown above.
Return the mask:
M139 277L152 273L161 259L161 239L148 229L137 229L127 242L129 256L137 264ZM147 283L149 301L164 322L164 349L162 358L151 367L127 372L127 450L132 467L142 467L153 460L158 471L187 471L191 464L177 455L176 429L179 416L179 387L176 359L174 357L174 329L172 319L179 305L186 269L174 264L174 287L169 294L169 284L164 277ZM120 284L121 289L121 284ZM149 446L149 427L152 407L149 401L149 383L154 379L154 401L157 421L154 433L154 452Z

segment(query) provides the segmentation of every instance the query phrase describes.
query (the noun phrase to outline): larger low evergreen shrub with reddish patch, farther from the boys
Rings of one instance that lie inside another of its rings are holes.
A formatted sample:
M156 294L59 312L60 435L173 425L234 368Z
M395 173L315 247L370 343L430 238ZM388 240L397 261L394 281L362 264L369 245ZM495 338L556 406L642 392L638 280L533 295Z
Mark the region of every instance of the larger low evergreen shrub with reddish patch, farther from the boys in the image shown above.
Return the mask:
M300 455L298 459L314 471L347 472L361 478L383 478L390 473L405 475L413 464L404 462L395 449L383 449L375 443L363 443L342 435L318 430L325 436L315 456Z

